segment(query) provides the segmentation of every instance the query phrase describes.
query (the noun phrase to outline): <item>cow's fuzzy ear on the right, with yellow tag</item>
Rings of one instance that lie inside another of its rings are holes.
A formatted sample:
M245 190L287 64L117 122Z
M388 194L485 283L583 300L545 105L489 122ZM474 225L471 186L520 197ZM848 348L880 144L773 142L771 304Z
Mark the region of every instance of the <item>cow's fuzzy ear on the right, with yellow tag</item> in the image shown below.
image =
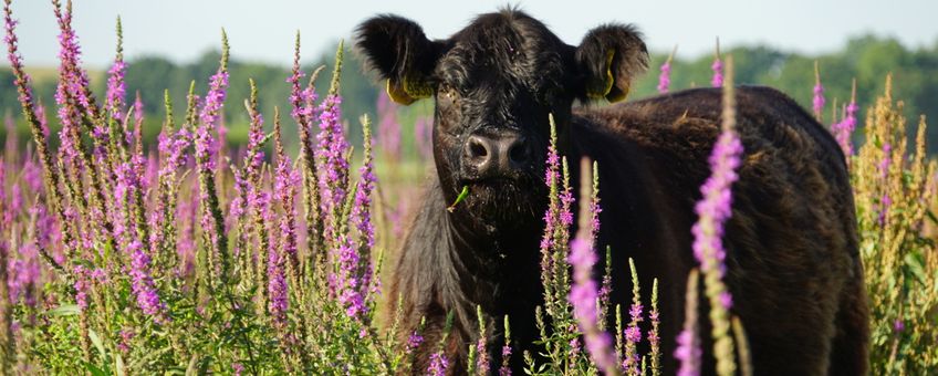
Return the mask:
M576 64L587 98L618 102L628 95L632 81L648 69L648 51L634 27L605 24L583 38Z

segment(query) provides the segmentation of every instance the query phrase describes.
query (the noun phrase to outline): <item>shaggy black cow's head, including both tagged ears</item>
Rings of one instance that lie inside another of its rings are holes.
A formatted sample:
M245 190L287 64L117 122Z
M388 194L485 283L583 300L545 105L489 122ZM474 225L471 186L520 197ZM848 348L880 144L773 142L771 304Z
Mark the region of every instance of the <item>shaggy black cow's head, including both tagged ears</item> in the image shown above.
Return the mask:
M545 196L549 114L565 135L574 101L623 100L647 65L630 27L603 25L571 46L514 10L480 15L436 41L413 21L379 15L358 28L357 45L387 80L392 100L436 100L444 197L452 202L468 187L458 212L496 226L542 213L535 198Z

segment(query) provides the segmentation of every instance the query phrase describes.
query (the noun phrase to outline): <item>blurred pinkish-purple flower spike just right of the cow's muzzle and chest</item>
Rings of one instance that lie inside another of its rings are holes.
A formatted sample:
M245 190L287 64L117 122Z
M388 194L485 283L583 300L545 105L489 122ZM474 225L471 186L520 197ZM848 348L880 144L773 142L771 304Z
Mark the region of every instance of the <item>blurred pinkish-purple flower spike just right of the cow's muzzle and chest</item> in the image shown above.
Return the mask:
M598 327L598 301L596 281L592 278L593 265L597 261L596 252L593 250L592 230L590 229L590 190L591 190L591 164L585 158L581 163L582 182L580 229L576 238L570 242L570 264L573 267L573 286L570 290L570 304L573 306L573 317L583 333L586 351L596 364L607 375L618 375L618 361L616 352L612 346L609 335Z

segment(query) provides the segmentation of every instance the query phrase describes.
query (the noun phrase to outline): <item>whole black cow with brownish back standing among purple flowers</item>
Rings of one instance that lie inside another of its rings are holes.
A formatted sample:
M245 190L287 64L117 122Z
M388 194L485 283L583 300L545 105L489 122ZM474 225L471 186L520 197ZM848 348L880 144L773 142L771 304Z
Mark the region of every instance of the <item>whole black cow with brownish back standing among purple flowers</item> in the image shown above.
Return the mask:
M448 312L455 321L445 347L454 370L465 369L468 344L478 336L477 304L488 322L510 315L521 347L515 354L536 349L534 309L543 302L539 239L548 195L543 171L553 114L561 153L571 161L588 156L598 163L598 244L613 250L613 302L627 305L628 257L645 286L652 276L660 280L664 366L673 373L685 281L696 265L694 203L709 175L720 91L572 108L574 102L623 100L646 69L645 44L630 25L598 27L579 46L517 10L479 15L445 40L428 40L418 24L395 15L367 20L357 32L357 46L387 80L393 100L436 102L436 174L388 291L392 302L403 296L402 340L426 317L415 372L426 369ZM726 229L727 282L754 369L862 374L867 307L844 156L782 93L740 87L737 103L746 152ZM579 170L572 175L579 181ZM463 186L469 196L448 212ZM707 333L705 327L704 338ZM489 344L497 356L498 333ZM711 343L704 346L705 367L712 370ZM518 374L519 355L512 357Z

